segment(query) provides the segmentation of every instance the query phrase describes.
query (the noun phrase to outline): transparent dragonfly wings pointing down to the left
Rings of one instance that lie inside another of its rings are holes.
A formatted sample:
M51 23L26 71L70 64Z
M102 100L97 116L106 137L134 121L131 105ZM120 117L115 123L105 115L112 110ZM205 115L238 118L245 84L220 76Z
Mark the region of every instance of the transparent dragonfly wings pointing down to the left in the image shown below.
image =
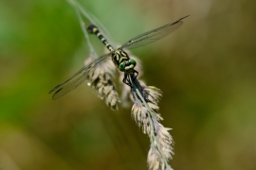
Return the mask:
M89 64L82 67L80 71L78 71L75 75L71 76L67 80L65 80L63 83L59 84L55 88L53 88L49 93L53 93L52 99L56 100L62 96L64 96L65 93L68 93L74 89L76 89L78 86L82 84L84 80L86 80L88 73L90 70L95 67L97 64L99 64L102 60L107 59L111 53L101 56L98 59L93 60Z

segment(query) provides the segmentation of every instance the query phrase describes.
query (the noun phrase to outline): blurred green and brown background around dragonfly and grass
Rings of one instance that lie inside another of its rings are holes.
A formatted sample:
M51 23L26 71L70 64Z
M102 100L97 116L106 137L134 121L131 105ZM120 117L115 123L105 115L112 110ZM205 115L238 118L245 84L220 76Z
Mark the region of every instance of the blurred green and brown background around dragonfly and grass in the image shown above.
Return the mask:
M162 124L175 142L170 164L256 169L256 1L81 3L120 43L191 15L171 36L133 51L147 84L163 91ZM149 139L131 107L108 109L85 83L51 100L49 90L88 53L66 1L0 1L1 170L147 169Z

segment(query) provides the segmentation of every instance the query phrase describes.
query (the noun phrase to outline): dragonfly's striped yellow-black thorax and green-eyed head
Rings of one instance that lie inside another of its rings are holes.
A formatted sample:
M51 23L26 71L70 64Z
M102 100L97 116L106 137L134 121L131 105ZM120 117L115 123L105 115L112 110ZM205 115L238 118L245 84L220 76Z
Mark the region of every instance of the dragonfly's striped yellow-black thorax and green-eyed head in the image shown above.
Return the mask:
M120 49L115 50L112 54L112 60L119 68L119 71L126 74L133 74L137 64L135 59L130 59L128 54Z

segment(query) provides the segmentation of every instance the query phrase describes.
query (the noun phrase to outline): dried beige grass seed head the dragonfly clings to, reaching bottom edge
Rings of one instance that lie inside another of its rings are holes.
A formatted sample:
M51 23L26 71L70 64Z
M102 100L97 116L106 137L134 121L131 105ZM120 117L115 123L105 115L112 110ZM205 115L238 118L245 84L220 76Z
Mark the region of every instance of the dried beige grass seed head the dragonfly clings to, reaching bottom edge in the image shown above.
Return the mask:
M172 159L173 138L168 132L171 128L163 127L158 121L163 118L157 112L157 103L162 95L161 91L153 86L146 86L137 78L131 78L132 92L135 104L132 108L132 117L137 126L150 137L151 147L148 153L148 165L151 170L172 169L168 160Z

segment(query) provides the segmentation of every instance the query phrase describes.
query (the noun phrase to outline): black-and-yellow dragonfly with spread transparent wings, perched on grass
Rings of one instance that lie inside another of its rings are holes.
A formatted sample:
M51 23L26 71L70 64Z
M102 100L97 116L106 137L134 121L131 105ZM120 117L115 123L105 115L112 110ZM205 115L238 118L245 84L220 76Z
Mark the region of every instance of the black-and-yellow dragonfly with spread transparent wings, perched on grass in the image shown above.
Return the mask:
M130 59L128 54L124 50L144 46L166 37L170 33L174 32L174 30L176 30L179 26L181 26L183 24L182 20L187 17L189 17L189 15L182 17L173 23L144 32L136 36L135 38L124 42L118 49L114 49L113 46L107 42L97 26L94 26L92 24L87 26L88 32L95 34L110 52L108 54L102 55L97 59L94 59L89 64L84 65L82 69L80 69L75 75L69 77L64 82L54 87L49 92L54 93L52 99L58 99L64 96L65 93L69 93L70 91L76 89L86 80L86 77L88 76L92 68L103 62L105 59L109 59L110 57L114 64L118 67L119 71L124 73L122 81L132 87L128 76L134 78L137 77L138 73L135 70L137 62L135 59Z

